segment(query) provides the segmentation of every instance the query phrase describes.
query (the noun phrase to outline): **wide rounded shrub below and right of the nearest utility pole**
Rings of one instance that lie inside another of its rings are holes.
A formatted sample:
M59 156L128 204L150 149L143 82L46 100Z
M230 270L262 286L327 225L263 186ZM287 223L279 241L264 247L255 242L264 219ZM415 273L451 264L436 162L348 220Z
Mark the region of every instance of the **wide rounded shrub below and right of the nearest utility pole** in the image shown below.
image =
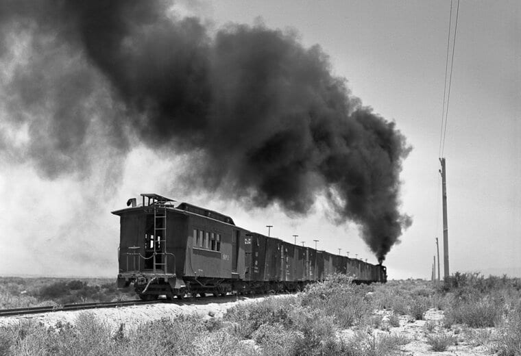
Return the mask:
M491 298L477 302L461 301L445 310L444 324L465 324L469 327L494 327L502 316L502 307Z

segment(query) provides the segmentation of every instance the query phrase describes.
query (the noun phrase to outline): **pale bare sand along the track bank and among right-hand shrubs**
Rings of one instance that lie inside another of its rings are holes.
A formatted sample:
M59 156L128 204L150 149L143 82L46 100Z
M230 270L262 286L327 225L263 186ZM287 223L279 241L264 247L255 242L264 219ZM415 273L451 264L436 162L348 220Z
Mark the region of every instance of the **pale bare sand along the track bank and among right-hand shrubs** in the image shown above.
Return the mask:
M272 296L274 298L282 297ZM125 324L125 328L133 328L137 325L152 321L159 320L165 317L175 317L181 314L199 314L204 318L221 318L226 310L236 305L237 303L252 303L254 301L260 301L267 296L241 296L236 297L206 297L196 298L195 300L180 301L177 303L160 303L152 305L134 305L129 307L118 307L118 308L102 308L102 309L89 309L88 312L94 314L99 320L104 320L110 325L110 327L116 330L121 323ZM85 311L73 311L73 312L53 312L47 314L32 314L29 316L16 316L16 317L1 317L0 326L12 325L21 322L21 320L34 320L36 322L42 322L44 325L53 326L58 321L61 322L75 322L75 318L78 314ZM383 325L386 324L390 312L378 311L376 314L383 316ZM490 355L486 346L476 346L475 340L471 340L468 333L465 333L464 327L452 327L451 329L444 329L442 327L441 319L443 318L443 312L430 309L426 312L425 320L412 320L409 316L400 316L399 327L385 328L369 328L358 329L353 327L351 329L343 330L338 332L339 338L348 340L354 338L356 333L364 332L369 335L376 336L381 335L404 335L410 342L408 344L400 346L400 354L406 356L424 356L424 355L458 355L458 356L470 356L470 355ZM428 330L426 324L430 322L431 327L434 323L433 329ZM475 329L474 329L475 330ZM493 332L491 328L483 329L483 332ZM428 335L435 335L436 333L446 333L452 335L457 340L454 346L449 346L447 351L435 352L431 350L431 346L427 343Z

